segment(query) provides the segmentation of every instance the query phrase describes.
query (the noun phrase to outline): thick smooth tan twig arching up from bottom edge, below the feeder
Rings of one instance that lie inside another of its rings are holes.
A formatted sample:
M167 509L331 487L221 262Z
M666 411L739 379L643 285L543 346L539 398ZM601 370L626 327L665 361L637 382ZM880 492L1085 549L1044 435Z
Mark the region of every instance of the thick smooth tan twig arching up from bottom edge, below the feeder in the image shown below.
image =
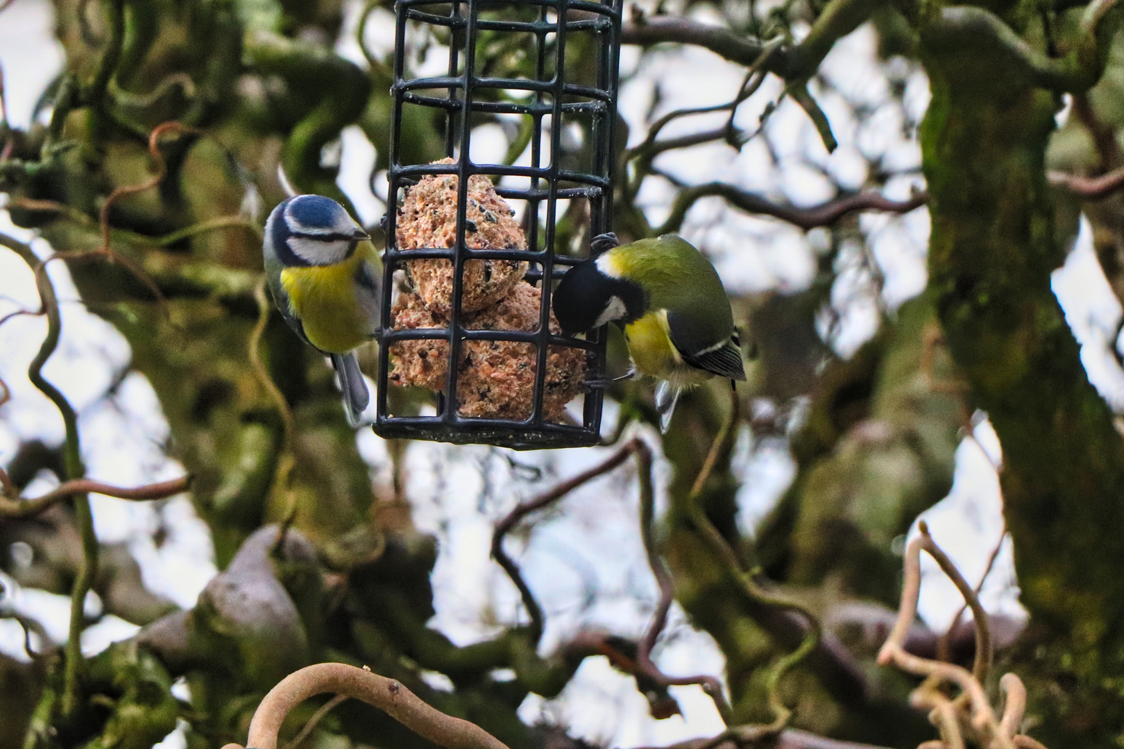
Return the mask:
M448 749L508 749L480 727L430 707L401 683L346 664L317 664L284 677L257 706L247 746L277 749L278 730L289 711L325 692L374 705L418 736ZM243 747L228 743L223 749Z

